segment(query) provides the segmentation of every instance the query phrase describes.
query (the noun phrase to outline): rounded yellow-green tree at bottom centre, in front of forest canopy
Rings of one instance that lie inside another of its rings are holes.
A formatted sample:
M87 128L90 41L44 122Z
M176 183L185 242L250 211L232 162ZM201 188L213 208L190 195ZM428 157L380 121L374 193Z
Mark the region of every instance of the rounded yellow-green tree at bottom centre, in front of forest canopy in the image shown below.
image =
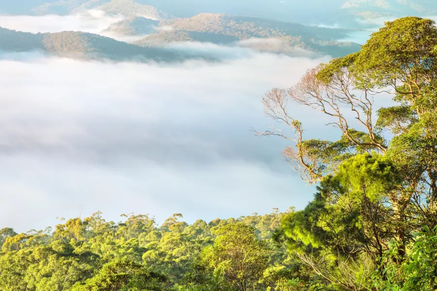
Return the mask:
M222 272L236 290L256 290L268 264L270 250L259 241L255 229L237 222L218 228L214 245L202 252L205 264Z

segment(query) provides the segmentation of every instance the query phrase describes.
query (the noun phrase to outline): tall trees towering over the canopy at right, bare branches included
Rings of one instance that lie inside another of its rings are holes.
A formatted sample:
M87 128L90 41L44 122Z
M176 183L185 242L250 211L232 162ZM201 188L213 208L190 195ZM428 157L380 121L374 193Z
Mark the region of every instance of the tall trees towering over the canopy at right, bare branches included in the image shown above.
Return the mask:
M336 267L359 254L381 258L395 242L391 258L400 264L415 231L436 225L436 57L435 22L404 17L374 32L359 52L320 64L294 86L266 94L266 115L285 127L256 133L293 142L283 152L286 160L303 180L320 183L307 210L283 221L278 240L334 256ZM340 139L305 139L293 105L326 114ZM302 259L327 274L310 257ZM381 259L374 261L380 266ZM327 278L361 290L338 274Z

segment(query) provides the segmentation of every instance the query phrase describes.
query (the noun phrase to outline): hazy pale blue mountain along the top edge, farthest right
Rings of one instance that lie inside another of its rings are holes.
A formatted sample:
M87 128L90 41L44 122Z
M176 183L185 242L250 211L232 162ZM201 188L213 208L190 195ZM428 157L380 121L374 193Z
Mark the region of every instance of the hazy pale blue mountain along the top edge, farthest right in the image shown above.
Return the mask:
M137 0L168 15L226 13L330 27L365 28L363 17L437 15L436 0Z

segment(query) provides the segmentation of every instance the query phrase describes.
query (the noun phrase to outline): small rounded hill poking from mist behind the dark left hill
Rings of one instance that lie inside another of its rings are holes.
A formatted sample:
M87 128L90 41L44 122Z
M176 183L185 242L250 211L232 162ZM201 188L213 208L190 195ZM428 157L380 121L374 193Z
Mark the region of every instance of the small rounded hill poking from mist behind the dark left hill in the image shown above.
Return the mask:
M111 24L103 32L112 32L119 35L145 35L154 32L159 21L149 18L134 16Z

